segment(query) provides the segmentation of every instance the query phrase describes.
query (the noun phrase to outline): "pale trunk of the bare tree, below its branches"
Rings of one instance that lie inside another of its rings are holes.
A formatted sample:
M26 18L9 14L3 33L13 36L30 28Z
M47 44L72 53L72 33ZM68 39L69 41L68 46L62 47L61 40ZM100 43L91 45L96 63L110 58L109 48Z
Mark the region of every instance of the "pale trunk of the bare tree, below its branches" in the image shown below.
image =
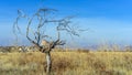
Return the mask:
M46 52L46 74L51 74L51 68L52 68L52 60L51 60L51 53Z

